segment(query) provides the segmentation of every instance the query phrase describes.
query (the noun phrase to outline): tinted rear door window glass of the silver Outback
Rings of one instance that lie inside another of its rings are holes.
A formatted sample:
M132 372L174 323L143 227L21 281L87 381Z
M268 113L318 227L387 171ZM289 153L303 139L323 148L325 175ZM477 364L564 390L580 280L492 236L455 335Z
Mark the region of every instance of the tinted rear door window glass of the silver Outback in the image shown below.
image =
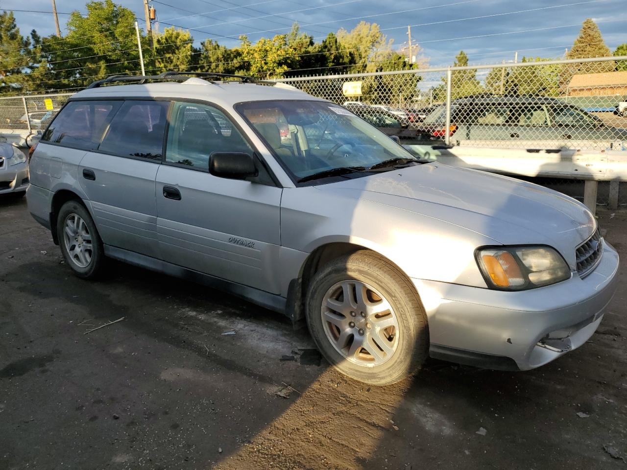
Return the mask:
M169 105L165 101L125 101L98 150L120 157L161 160Z

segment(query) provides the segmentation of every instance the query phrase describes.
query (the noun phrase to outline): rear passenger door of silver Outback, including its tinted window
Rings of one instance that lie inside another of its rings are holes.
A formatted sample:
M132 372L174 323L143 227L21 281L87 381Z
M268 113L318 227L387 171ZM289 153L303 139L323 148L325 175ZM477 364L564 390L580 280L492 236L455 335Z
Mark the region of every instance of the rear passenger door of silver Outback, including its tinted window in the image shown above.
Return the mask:
M83 157L78 179L105 244L159 258L155 177L170 102L119 103L98 149Z

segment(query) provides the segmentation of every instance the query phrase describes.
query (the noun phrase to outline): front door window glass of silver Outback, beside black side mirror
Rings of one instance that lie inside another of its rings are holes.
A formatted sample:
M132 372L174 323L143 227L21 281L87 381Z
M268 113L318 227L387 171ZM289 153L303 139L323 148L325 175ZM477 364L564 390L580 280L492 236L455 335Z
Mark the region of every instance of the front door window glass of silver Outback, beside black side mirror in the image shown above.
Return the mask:
M212 152L253 154L238 128L218 108L175 103L167 133L166 161L208 170Z

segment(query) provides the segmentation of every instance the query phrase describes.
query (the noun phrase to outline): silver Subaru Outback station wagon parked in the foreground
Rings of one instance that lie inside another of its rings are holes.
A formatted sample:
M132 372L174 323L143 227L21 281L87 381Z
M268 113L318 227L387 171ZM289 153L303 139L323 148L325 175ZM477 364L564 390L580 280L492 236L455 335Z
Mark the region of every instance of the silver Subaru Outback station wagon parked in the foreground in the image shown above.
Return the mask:
M376 385L429 356L528 370L598 328L618 255L585 206L229 78L115 76L56 115L28 206L77 276L110 257L228 291L306 322L334 367Z

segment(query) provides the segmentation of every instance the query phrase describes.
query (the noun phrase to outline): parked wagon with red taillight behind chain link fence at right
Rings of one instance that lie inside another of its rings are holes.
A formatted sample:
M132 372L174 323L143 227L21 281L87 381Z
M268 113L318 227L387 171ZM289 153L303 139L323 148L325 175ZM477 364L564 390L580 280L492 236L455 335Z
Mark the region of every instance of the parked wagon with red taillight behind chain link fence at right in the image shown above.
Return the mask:
M424 119L420 128L435 137L445 137L445 122L446 107L441 105ZM586 142L605 149L616 140L627 140L625 129L605 125L589 112L556 98L539 97L479 96L454 100L448 132L458 144L510 141L547 148Z

